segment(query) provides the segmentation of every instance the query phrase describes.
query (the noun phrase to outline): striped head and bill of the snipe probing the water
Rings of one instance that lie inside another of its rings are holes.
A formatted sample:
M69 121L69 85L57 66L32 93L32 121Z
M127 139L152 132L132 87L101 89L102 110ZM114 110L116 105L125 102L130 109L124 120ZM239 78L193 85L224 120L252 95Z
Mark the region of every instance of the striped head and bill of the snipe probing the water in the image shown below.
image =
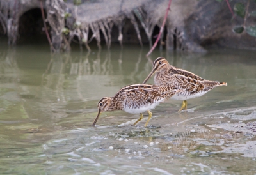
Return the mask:
M100 99L100 101L98 103L99 112L98 112L96 118L94 119L92 126L95 126L97 120L99 119L99 116L100 116L101 112L106 112L106 111L112 111L113 110L111 108L111 104L112 104L112 97L104 97L104 98Z

